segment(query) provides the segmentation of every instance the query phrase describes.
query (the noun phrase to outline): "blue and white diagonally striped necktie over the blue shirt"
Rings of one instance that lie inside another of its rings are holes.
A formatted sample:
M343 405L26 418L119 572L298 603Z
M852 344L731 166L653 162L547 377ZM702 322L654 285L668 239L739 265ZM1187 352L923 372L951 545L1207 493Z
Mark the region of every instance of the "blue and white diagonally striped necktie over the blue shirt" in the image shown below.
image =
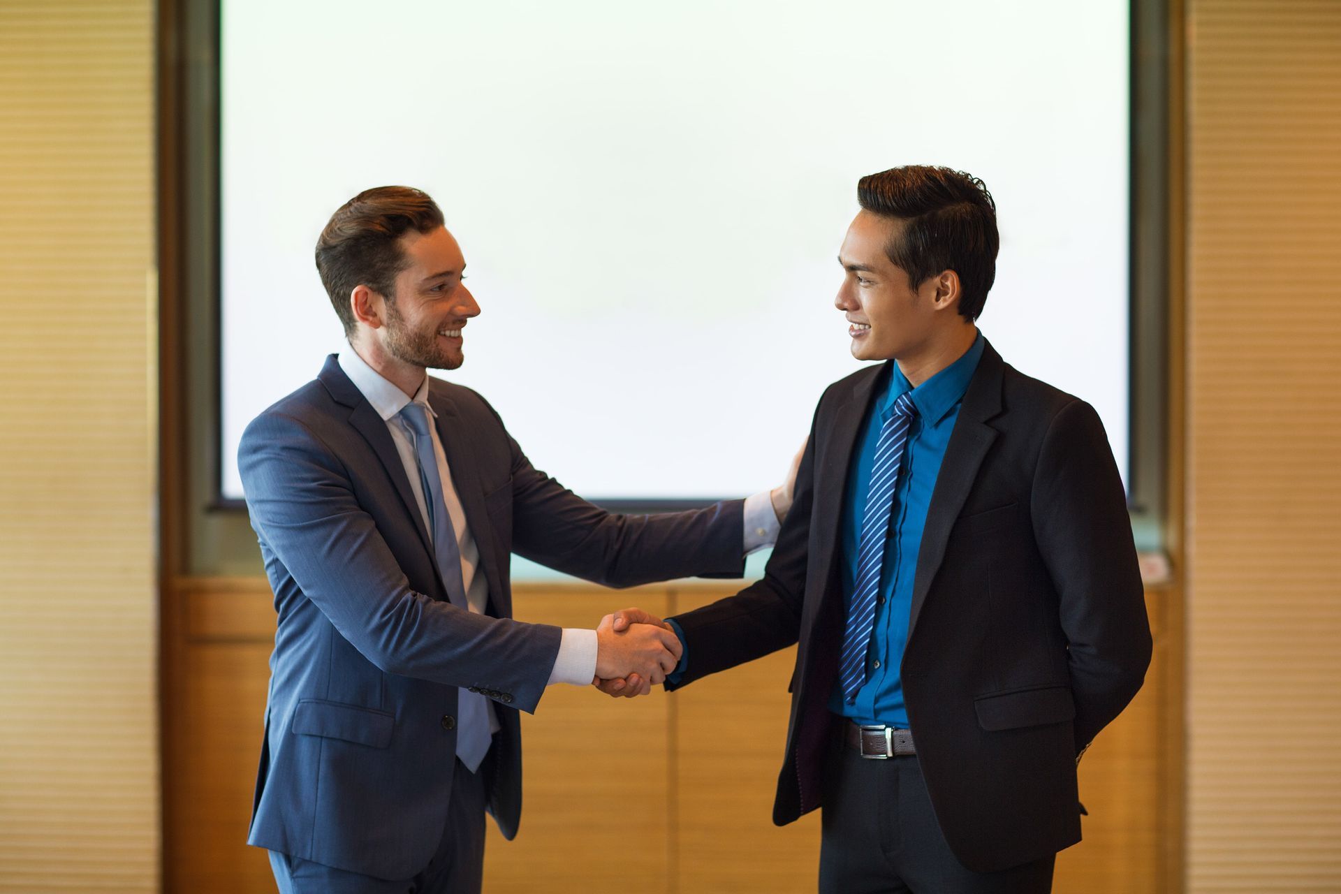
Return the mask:
M842 694L856 701L857 690L866 684L870 667L866 651L870 646L872 622L876 618L876 598L880 595L880 572L885 564L885 541L889 539L889 519L894 508L894 485L904 461L904 445L917 409L912 391L894 401L894 410L880 429L876 460L870 468L870 487L866 491L866 513L861 523L861 544L857 547L857 578L852 604L848 606L848 626L842 638L842 657L838 678Z

